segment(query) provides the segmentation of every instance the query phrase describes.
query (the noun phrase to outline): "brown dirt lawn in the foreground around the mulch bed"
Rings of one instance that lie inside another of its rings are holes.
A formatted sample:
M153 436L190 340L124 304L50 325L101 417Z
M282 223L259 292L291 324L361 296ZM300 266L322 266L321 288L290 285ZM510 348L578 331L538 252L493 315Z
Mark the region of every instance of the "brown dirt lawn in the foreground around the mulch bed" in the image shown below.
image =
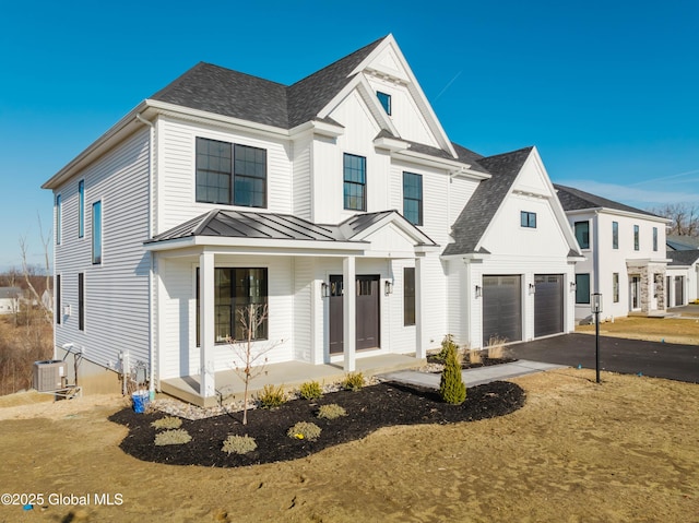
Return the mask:
M0 491L45 502L0 507L0 521L699 521L699 385L593 380L576 369L519 378L528 401L509 416L384 428L242 468L126 455L127 429L106 420L120 399L7 406ZM98 504L105 495L117 504Z

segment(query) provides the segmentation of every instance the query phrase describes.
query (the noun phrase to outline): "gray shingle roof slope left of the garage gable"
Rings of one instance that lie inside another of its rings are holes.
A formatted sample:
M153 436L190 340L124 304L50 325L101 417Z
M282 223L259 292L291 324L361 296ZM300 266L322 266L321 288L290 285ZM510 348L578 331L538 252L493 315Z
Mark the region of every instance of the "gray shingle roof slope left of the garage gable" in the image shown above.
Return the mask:
M532 148L525 147L478 159L478 164L493 176L481 181L469 203L461 211L452 227L454 242L447 246L442 252L443 255L475 252L478 241L483 238L495 213L500 209ZM482 250L482 252L487 251Z

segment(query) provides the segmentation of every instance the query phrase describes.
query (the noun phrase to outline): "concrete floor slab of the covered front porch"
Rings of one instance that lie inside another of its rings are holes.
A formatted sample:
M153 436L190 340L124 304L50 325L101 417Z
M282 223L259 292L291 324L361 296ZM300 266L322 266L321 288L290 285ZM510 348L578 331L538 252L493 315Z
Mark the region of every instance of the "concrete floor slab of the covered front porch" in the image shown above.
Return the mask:
M414 355L383 354L356 359L356 371L365 378L402 369L413 369L425 365L425 359L416 359ZM332 383L341 381L345 376L342 364L312 365L304 361L286 361L271 364L262 375L250 381L249 394L253 396L264 385L283 385L289 390L298 388L307 381ZM161 381L161 391L200 407L217 405L221 401L229 403L241 400L245 383L235 370L216 372L216 395L203 399L199 395L200 376L185 376Z

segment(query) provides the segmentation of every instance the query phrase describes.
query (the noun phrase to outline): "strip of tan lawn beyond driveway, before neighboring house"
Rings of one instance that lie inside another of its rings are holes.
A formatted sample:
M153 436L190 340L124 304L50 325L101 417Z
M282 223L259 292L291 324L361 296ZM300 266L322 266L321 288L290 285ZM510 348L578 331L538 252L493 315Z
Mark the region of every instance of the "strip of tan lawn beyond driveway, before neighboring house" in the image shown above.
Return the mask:
M594 325L578 325L576 332L594 334ZM600 323L603 336L699 345L699 318L617 318Z

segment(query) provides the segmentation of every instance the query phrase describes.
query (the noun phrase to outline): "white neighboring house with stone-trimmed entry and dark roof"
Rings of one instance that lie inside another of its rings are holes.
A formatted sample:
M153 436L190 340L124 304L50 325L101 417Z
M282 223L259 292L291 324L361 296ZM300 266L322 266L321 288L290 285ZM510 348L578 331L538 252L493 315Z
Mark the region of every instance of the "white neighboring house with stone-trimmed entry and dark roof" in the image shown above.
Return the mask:
M601 293L602 318L663 314L668 219L571 187L555 186L587 258L576 265L576 318L591 318Z

